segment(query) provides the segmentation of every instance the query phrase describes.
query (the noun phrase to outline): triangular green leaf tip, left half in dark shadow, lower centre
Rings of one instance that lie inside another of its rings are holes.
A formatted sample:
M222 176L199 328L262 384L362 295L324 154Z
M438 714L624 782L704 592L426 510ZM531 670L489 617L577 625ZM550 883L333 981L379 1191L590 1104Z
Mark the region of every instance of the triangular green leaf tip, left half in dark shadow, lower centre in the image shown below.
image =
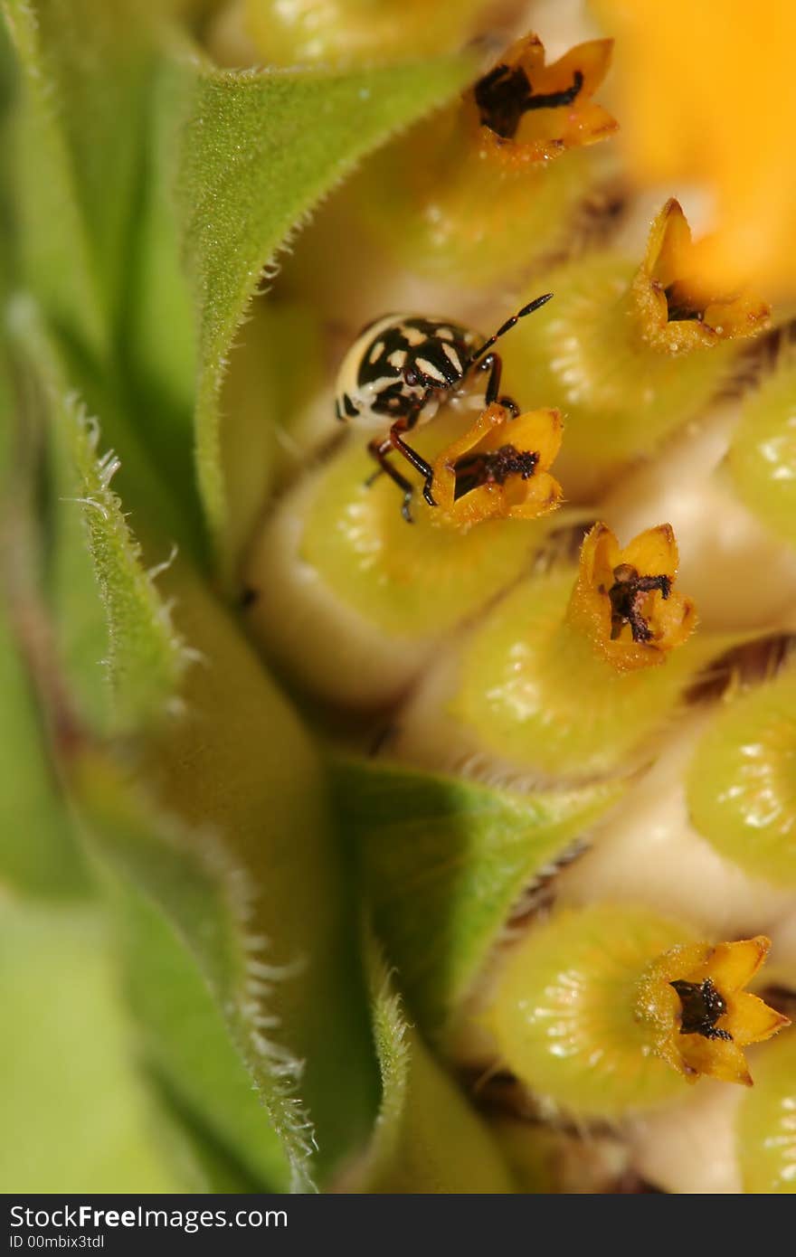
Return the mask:
M570 852L622 787L518 794L410 768L341 763L340 825L409 1007L439 1035L523 890Z

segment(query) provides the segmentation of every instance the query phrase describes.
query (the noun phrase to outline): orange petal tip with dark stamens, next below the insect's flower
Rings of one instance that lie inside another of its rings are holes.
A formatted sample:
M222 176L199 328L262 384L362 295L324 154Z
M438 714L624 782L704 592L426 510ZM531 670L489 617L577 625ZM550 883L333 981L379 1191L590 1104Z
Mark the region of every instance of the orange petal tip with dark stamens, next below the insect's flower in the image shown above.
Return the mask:
M697 623L694 603L674 592L677 568L670 524L648 528L624 549L595 524L581 546L567 618L620 672L661 664Z

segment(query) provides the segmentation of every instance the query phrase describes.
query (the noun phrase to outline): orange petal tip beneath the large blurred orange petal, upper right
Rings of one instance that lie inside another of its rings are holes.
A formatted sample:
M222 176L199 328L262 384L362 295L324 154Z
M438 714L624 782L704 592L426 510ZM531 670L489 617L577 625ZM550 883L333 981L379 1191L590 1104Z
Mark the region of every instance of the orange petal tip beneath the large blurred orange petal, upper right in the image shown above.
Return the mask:
M666 201L653 222L631 289L641 334L654 348L683 353L755 336L768 326L766 302L744 293L719 293L697 278L703 244L692 243L679 201Z

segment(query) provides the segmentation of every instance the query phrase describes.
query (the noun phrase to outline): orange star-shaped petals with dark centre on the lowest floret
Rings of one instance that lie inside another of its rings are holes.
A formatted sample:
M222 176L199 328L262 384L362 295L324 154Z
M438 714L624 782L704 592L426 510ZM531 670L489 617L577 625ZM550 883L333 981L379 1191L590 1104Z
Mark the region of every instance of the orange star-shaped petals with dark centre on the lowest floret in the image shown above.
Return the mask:
M771 941L688 943L659 957L640 987L639 1017L656 1027L655 1051L690 1082L702 1075L752 1085L743 1048L788 1026L748 985Z

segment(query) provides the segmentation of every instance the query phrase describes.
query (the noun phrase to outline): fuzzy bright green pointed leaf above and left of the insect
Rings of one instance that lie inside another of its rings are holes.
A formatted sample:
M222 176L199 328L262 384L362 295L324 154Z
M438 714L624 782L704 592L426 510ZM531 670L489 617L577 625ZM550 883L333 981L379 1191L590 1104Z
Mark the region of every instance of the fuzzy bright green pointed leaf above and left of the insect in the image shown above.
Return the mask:
M219 392L263 268L365 153L441 104L469 73L469 59L446 58L348 73L196 77L181 132L177 195L197 307L197 475L221 549L228 486Z

